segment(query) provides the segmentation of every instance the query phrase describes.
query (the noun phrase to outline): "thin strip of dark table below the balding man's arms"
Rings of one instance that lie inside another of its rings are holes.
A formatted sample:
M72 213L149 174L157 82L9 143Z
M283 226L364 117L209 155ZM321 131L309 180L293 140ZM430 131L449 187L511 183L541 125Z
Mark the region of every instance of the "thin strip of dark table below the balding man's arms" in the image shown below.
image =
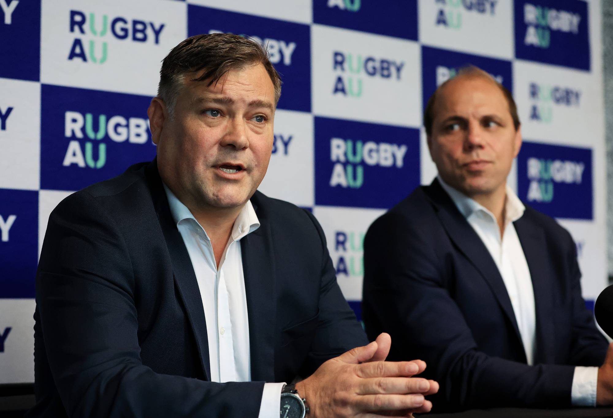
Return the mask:
M421 418L582 418L599 417L612 418L613 408L573 408L573 409L524 409L524 408L493 408L472 409L471 411L455 412L454 414L419 414Z

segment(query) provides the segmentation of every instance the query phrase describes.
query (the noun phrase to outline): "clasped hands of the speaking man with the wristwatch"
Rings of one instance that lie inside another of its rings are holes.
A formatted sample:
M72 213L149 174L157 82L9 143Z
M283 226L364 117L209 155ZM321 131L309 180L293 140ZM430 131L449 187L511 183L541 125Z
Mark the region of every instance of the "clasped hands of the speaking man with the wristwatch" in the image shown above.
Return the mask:
M425 363L386 362L390 337L381 334L364 347L330 359L313 375L296 384L307 400L310 418L410 416L428 412L432 403L424 395L438 392L433 380L414 378Z

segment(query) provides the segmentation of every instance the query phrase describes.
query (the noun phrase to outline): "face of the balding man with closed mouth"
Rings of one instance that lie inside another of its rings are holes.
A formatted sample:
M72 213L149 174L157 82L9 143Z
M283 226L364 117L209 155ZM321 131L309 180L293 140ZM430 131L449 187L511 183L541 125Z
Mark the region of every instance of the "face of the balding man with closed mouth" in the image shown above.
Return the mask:
M438 92L434 114L428 147L441 178L473 198L504 188L522 138L500 88L460 75Z

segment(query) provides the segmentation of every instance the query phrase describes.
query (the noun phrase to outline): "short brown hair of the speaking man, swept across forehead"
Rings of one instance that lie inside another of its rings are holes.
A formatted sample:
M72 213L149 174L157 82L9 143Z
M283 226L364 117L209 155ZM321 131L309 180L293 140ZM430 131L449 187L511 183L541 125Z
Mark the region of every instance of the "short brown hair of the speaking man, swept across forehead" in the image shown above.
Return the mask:
M195 35L172 48L162 61L158 97L166 103L170 119L173 119L177 95L184 87L186 73L205 70L191 81L209 80L207 86L210 86L229 70L257 64L264 65L275 86L276 105L281 96L281 77L260 43L233 34Z

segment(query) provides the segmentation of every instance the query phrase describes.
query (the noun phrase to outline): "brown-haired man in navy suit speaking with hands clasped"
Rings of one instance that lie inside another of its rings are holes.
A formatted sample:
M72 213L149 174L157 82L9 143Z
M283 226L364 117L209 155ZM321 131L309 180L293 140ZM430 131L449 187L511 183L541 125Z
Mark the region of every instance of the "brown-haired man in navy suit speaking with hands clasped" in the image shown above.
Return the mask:
M50 216L29 416L431 408L438 385L413 377L424 362L384 362L388 335L365 345L313 215L256 191L280 94L265 51L237 35L197 35L164 59L156 159Z

